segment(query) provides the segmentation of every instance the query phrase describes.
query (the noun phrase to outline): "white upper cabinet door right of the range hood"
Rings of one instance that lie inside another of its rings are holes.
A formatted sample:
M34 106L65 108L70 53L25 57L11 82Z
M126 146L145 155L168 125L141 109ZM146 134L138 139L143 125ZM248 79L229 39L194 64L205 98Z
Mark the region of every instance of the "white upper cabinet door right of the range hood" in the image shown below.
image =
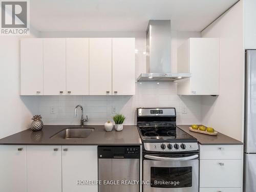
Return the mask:
M219 39L190 38L189 46L190 94L219 95Z

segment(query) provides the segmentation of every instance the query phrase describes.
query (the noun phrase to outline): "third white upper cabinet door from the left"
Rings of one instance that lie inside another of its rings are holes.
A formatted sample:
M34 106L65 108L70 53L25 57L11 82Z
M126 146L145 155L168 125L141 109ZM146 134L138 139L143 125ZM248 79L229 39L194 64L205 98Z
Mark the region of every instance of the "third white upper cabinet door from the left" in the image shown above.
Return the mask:
M89 39L67 38L67 94L89 95Z

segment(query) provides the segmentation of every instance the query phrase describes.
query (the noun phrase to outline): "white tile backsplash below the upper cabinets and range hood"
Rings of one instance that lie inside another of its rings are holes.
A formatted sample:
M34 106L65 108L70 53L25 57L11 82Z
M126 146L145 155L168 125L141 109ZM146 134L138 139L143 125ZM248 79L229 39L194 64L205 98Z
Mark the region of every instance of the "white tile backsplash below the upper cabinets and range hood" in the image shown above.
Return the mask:
M164 91L163 91L164 90ZM103 124L111 120L112 108L126 116L125 124L136 124L136 108L138 107L175 107L177 123L201 123L200 96L176 95L174 82L143 82L136 83L134 96L52 96L40 97L39 113L45 124L79 124L81 112L78 110L74 118L75 106L81 104L84 116L88 115L87 124ZM186 107L186 114L181 107ZM57 108L56 114L51 114L51 108Z

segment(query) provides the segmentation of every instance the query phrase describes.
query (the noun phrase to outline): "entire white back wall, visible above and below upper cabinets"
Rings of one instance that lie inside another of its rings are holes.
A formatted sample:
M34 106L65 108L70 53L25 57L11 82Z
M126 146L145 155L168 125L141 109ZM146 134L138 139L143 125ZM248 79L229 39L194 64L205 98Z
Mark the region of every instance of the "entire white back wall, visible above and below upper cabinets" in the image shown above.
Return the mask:
M136 78L145 72L145 33L142 32L41 32L41 37L135 37ZM177 70L177 47L188 37L200 37L200 32L172 31L172 68ZM79 124L74 119L74 108L82 104L89 117L88 124L102 124L111 119L112 106L117 112L126 115L125 124L136 124L137 107L175 107L179 124L201 123L200 96L177 95L177 83L142 82L136 83L135 96L42 96L39 97L39 113L45 124ZM51 109L54 113L51 114ZM181 109L187 113L182 114Z

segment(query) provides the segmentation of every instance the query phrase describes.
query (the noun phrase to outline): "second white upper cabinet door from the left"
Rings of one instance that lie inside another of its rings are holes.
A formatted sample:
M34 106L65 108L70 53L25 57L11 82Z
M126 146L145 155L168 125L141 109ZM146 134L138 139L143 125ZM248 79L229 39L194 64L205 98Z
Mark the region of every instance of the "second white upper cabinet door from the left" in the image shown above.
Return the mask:
M66 39L44 38L44 95L66 94Z

